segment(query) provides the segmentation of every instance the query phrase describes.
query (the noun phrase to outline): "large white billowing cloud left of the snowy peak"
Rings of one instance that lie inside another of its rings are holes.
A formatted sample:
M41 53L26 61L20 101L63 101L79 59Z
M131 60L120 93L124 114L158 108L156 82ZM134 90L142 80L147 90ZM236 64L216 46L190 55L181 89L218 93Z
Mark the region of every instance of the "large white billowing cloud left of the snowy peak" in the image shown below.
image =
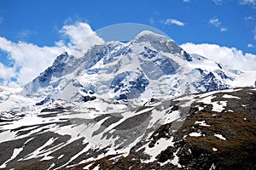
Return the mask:
M20 85L32 81L40 72L51 65L56 56L67 51L69 54L81 56L96 43L102 43L102 38L96 36L86 23L75 23L63 26L60 31L69 41L55 42L52 47L38 47L27 42L11 42L5 37L0 37L0 50L6 52L13 66L7 67L0 62L0 78L2 84L10 83L15 78Z

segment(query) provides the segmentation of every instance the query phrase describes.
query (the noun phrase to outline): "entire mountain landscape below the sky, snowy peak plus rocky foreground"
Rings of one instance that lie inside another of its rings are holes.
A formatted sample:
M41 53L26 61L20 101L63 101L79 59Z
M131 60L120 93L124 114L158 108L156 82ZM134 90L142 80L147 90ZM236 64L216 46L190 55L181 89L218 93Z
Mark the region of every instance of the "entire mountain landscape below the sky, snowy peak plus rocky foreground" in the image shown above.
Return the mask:
M255 80L151 31L63 53L0 87L0 169L256 169Z

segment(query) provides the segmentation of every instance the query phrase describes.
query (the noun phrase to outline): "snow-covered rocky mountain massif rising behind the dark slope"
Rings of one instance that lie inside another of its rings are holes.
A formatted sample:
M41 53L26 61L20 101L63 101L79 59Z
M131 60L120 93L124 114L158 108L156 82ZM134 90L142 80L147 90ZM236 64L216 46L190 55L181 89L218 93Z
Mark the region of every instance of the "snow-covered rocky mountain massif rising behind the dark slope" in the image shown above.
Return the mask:
M255 72L254 72L255 73ZM106 42L77 58L61 54L21 94L80 101L166 98L232 88L242 71L188 54L171 38L143 31L131 42ZM254 76L255 77L255 76ZM253 85L253 79L242 87Z

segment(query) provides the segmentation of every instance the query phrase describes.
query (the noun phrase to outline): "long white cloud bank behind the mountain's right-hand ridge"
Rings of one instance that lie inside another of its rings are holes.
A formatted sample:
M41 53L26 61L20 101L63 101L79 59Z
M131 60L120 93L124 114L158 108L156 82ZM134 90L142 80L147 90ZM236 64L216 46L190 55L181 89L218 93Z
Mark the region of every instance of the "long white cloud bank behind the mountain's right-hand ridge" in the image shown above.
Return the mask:
M218 63L229 65L230 68L241 71L256 71L256 55L243 54L236 48L221 47L217 44L195 44L187 42L181 47L189 54L200 54Z

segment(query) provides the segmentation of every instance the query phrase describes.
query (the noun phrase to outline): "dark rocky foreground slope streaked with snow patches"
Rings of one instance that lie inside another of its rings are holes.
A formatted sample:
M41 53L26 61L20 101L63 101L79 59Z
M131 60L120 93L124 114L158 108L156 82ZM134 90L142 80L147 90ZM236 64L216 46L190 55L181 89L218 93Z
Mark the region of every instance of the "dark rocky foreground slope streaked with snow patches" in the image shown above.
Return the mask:
M64 100L36 108L1 113L0 168L256 168L256 88L137 107L94 99L79 108Z

